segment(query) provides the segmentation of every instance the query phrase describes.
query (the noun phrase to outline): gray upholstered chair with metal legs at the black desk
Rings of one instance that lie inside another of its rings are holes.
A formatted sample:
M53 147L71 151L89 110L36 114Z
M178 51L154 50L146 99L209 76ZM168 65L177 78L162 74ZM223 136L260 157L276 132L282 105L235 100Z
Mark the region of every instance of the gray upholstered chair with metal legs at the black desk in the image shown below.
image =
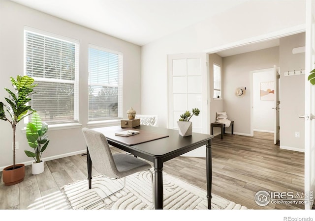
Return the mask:
M150 171L152 179L152 202L154 202L153 173L150 170L152 166L149 163L127 154L112 154L108 141L103 134L88 128L82 128L82 132L95 169L103 176L110 179L124 178L124 186L115 193L124 189L126 185L126 176L148 170ZM111 193L110 195L97 200L85 209L94 206L115 193ZM153 207L154 203L152 208Z

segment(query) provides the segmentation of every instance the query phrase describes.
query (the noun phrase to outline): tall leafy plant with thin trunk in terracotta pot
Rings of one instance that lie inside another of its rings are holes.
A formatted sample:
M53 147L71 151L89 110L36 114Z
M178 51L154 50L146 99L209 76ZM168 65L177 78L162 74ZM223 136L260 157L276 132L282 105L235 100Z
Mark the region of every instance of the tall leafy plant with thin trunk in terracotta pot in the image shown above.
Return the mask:
M15 163L15 132L16 125L35 112L31 106L26 104L32 100L30 96L37 85L33 84L34 79L29 76L18 75L16 79L10 77L10 80L14 91L4 88L9 93L9 97L4 98L7 102L6 105L0 102L0 119L9 122L13 132L13 165L5 167L2 171L3 183L6 186L22 182L25 176L25 165ZM9 116L6 116L5 112L8 112Z

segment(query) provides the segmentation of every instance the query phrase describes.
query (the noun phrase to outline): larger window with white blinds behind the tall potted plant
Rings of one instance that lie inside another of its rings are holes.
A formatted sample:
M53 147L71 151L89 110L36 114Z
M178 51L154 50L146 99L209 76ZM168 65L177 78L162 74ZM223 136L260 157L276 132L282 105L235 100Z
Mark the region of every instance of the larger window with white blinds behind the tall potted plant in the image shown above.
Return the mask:
M25 73L37 83L30 105L48 124L79 120L78 54L75 40L25 29Z

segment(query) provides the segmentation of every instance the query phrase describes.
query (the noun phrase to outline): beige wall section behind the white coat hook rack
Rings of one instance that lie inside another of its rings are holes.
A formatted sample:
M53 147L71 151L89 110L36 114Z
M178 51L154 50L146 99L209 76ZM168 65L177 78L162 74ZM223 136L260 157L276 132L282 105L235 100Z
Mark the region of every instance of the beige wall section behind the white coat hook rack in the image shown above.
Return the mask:
M305 70L305 53L292 49L305 46L305 32L280 39L280 147L304 151L305 75L284 76L287 71ZM300 132L300 138L295 138Z

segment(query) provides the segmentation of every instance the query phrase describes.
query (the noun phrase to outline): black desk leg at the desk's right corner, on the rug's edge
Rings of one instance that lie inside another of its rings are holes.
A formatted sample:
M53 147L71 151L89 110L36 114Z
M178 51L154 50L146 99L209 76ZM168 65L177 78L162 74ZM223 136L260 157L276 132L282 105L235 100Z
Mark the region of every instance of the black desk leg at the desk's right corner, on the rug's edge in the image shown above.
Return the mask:
M211 210L211 187L212 187L212 153L211 153L211 139L208 140L206 145L206 177L207 177L207 198L208 209Z

